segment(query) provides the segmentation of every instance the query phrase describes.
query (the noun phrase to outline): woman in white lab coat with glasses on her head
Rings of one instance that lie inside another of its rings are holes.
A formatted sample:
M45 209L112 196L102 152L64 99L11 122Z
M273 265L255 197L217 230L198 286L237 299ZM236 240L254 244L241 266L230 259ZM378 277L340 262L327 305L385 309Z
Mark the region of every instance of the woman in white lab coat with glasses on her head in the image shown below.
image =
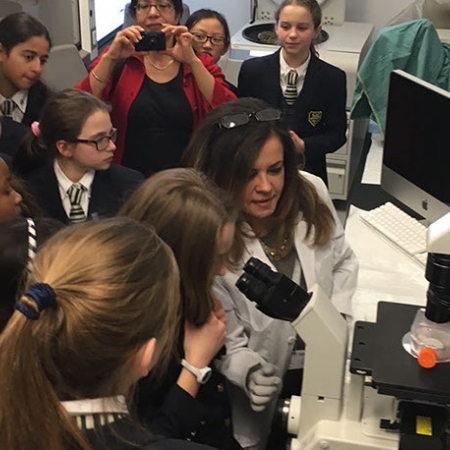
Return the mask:
M217 277L215 293L228 319L220 370L230 381L235 436L244 448L258 450L265 448L281 379L283 397L299 393L302 343L288 322L264 315L237 289L243 265L254 256L305 289L318 283L345 316L352 312L358 272L325 184L299 172L280 117L258 99L221 105L185 155L188 165L232 194L245 219L231 249L238 269Z

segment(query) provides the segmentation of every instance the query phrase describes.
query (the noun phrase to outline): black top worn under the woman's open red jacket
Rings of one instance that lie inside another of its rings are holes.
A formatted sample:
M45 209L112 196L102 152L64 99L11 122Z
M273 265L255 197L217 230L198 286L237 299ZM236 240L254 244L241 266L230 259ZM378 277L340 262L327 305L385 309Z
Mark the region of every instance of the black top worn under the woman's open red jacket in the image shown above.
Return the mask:
M168 83L145 76L131 104L122 164L148 176L180 166L193 127L182 68Z

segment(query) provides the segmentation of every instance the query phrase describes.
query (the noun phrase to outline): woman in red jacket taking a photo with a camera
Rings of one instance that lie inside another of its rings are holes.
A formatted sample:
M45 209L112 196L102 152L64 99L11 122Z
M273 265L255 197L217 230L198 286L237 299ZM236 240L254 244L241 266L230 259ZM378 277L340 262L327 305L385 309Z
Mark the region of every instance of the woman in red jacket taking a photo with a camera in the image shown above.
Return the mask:
M114 161L149 175L176 167L189 137L215 106L234 99L208 55L179 26L181 0L132 0L136 24L119 31L77 88L112 105ZM136 52L144 31L164 33L166 50Z

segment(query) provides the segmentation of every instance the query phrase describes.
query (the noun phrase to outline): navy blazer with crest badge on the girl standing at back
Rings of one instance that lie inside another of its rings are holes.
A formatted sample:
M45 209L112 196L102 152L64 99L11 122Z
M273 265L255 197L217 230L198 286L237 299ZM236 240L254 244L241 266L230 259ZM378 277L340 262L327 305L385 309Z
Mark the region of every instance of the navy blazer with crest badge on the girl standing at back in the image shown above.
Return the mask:
M280 50L244 61L239 72L239 97L265 100L285 113L289 127L305 141L305 170L327 183L326 158L346 142L347 87L345 72L314 54L303 89L288 113L280 86Z

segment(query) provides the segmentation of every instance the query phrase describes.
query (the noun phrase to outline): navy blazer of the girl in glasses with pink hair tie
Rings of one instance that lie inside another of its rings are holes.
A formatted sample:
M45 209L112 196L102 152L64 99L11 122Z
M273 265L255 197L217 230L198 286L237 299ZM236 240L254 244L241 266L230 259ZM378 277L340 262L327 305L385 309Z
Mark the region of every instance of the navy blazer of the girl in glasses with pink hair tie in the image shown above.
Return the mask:
M45 217L63 223L70 220L62 205L53 162L26 177L28 192L36 199ZM128 167L111 164L107 170L96 170L91 187L88 219L114 216L144 176Z

